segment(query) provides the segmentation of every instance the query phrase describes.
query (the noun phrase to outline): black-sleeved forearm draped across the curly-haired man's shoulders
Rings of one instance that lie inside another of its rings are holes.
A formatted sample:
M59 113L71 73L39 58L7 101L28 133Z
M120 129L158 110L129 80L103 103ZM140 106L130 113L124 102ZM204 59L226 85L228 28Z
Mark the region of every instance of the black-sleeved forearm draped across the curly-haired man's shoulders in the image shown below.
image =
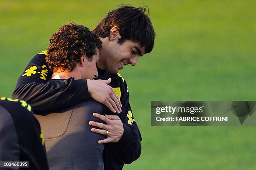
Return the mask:
M27 101L34 111L56 110L89 99L86 79L69 78L62 82L31 82L15 89L13 99Z

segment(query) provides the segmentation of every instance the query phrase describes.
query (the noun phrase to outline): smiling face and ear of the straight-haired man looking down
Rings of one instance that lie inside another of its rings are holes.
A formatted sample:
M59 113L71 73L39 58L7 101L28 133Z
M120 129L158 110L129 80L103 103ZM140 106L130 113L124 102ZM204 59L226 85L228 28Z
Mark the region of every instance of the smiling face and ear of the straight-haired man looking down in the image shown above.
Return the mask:
M139 42L125 40L122 44L119 44L118 39L120 38L118 30L112 29L110 37L102 39L98 67L107 69L111 73L117 73L125 65L136 65L138 58L144 55L145 47L141 47Z

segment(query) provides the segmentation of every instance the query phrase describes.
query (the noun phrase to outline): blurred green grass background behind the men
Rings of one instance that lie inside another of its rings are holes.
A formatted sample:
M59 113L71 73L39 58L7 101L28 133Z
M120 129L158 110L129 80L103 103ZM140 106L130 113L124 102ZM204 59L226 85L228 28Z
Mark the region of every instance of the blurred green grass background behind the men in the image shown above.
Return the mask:
M255 170L256 127L153 127L151 100L256 100L256 1L0 1L0 96L68 22L91 30L119 4L147 5L154 50L120 73L141 157L124 170Z

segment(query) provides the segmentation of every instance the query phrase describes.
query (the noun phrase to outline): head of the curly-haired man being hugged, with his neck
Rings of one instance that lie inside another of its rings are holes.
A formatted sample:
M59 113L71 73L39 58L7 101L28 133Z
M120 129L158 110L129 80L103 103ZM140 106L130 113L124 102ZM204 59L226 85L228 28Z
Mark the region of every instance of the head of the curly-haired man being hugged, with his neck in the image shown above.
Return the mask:
M53 70L52 77L97 78L101 44L100 38L88 28L76 23L63 25L51 36L47 48L46 62Z

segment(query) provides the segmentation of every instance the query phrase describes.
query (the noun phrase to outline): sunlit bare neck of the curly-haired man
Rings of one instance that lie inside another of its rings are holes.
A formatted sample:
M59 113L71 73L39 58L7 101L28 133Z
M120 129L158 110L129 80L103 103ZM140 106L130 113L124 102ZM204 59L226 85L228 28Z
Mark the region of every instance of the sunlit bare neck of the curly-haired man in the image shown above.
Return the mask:
M70 77L74 77L74 79L77 80L82 78L77 67L75 67L74 70L72 70L71 72L67 69L63 70L59 68L58 70L56 70L56 72L53 72L51 78L53 78L56 75L59 75L61 79L68 79Z

